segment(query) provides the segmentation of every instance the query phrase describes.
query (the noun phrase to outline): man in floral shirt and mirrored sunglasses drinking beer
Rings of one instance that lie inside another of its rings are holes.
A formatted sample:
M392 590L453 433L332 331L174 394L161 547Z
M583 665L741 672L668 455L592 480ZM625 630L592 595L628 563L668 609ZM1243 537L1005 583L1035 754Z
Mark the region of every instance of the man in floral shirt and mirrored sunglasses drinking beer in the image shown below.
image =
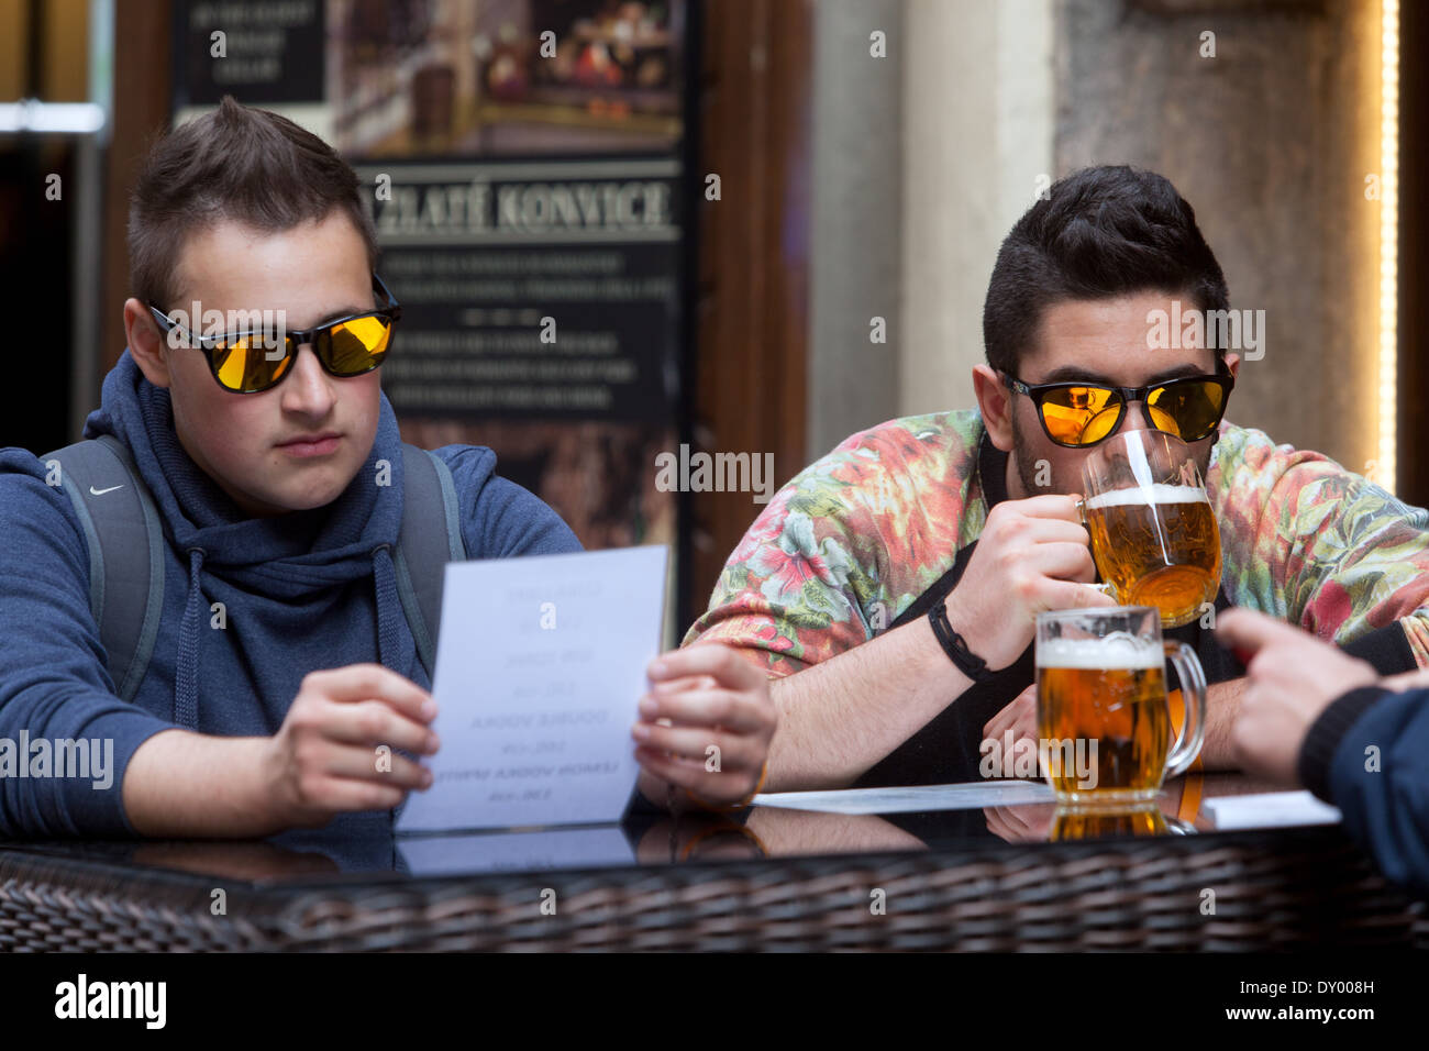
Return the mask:
M1147 349L1153 317L1226 309L1195 212L1157 174L1086 169L1017 222L983 310L977 410L879 425L799 473L684 639L737 646L772 678L780 732L767 788L972 781L980 742L1009 729L1035 739L1036 613L1112 605L1086 586L1096 569L1069 495L1096 446L1053 440L1067 438L1056 429L1066 398L1047 383L1109 398L1100 440L1180 430L1220 525L1218 611L1300 625L1382 673L1429 665L1429 515L1226 422L1240 367L1228 347L1190 337ZM957 662L935 633L939 615L963 643ZM1203 621L1166 635L1206 666L1203 759L1226 766L1245 669Z

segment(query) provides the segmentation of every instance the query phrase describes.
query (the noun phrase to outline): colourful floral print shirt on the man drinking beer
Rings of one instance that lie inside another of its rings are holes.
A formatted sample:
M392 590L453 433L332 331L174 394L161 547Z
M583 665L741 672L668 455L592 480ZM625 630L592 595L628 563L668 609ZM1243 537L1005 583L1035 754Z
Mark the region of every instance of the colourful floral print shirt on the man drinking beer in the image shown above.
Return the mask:
M783 676L893 625L982 532L976 410L847 438L769 502L684 638ZM1316 452L1223 422L1206 488L1232 605L1345 643L1399 623L1429 666L1429 512Z

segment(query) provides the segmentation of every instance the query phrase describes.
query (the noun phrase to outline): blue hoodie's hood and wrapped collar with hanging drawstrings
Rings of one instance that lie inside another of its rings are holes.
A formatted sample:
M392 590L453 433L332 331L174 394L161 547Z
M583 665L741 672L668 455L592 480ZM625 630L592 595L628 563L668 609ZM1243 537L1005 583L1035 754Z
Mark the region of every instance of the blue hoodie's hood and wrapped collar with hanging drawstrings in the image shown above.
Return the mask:
M144 379L126 347L104 378L101 403L84 423L84 438L113 435L134 458L149 488L164 538L189 566L187 603L179 635L174 721L197 728L200 631L213 602L242 608L259 593L292 605L292 631L312 621L303 608L324 592L372 578L377 606L377 652L394 666L404 613L392 551L402 526L402 436L386 395L366 463L342 495L323 508L250 518L184 452L174 430L169 390ZM390 485L376 485L377 463L390 465Z

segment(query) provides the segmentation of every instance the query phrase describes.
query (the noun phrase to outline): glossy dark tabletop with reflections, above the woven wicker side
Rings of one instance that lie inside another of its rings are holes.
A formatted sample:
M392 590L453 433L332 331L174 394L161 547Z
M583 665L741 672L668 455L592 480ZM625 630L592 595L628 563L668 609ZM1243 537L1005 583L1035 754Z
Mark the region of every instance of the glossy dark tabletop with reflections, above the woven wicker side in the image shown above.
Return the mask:
M1226 828L1336 819L1330 808L1283 794L1242 806L1232 819L1232 804L1266 792L1282 789L1242 774L1190 774L1169 782L1155 804L1093 809L1059 808L1043 782L992 781L780 794L762 796L759 805L733 814L667 814L632 805L617 825L394 835L390 812L370 812L343 815L322 829L290 831L262 841L0 844L0 849L254 884L309 884L976 849L997 842L1215 835Z

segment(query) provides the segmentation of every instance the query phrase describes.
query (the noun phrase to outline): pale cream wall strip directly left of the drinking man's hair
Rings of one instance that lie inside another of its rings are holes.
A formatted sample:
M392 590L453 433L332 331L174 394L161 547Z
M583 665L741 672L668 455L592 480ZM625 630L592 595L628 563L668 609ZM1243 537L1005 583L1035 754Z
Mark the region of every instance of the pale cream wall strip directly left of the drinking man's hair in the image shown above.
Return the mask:
M1052 172L1052 0L909 0L899 415L975 405L997 247Z

